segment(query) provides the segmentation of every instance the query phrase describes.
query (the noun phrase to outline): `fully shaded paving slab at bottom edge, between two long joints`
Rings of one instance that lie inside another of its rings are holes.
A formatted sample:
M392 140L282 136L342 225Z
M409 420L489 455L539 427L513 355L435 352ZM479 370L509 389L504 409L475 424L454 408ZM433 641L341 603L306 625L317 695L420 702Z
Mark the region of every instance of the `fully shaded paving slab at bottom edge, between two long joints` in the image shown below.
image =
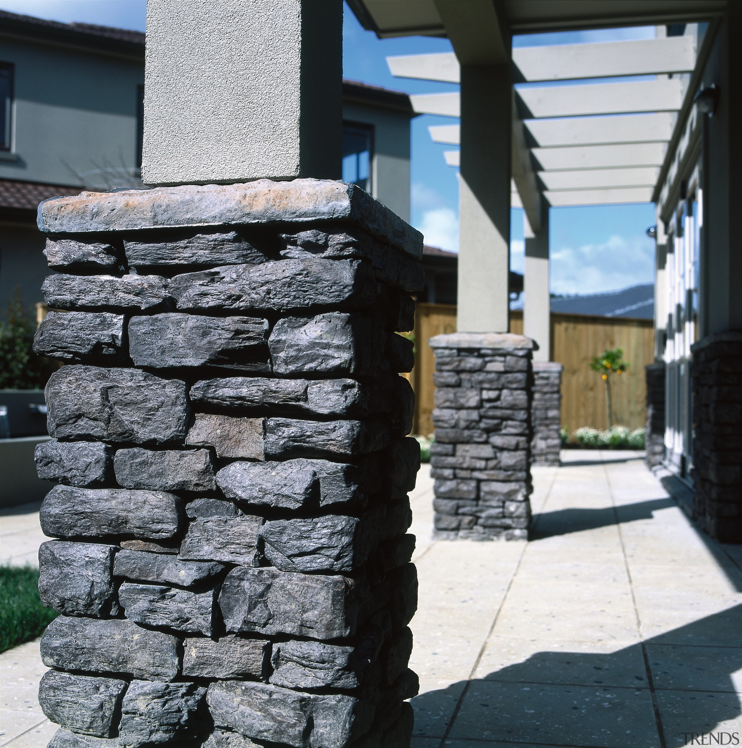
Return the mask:
M601 748L659 744L648 688L528 682L472 681L450 736Z

